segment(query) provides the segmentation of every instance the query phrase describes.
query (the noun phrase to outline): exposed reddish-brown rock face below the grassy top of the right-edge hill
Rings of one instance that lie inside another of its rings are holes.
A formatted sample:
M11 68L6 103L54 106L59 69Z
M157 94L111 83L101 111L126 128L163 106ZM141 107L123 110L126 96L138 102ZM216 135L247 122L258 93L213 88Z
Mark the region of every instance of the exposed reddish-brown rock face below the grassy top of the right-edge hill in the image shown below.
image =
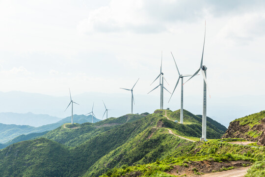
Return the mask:
M232 121L222 138L243 138L265 146L265 118L251 126L250 124L240 125L239 120Z

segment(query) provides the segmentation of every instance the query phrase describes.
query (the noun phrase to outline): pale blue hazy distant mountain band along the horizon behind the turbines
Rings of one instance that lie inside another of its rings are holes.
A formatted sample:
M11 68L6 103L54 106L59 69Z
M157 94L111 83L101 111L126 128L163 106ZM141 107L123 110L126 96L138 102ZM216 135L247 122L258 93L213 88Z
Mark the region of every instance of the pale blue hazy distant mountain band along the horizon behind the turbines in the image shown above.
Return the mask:
M118 89L118 88L117 88ZM67 89L65 91L67 92ZM155 95L156 92L154 93ZM159 108L159 97L155 95L140 95L137 94L137 88L134 92L135 105L133 107L134 113L153 112ZM95 93L86 92L75 95L73 91L73 99L80 105L74 105L74 114L82 115L91 112L92 104L95 102L94 113L97 118L102 118L105 108L102 100L105 101L106 107L111 109L108 112L109 117L119 117L130 113L131 111L131 95L130 93ZM71 110L66 110L69 102L69 96L51 96L39 93L27 93L22 91L0 92L0 112L13 113L34 113L34 114L48 114L52 117L66 118L71 115ZM196 115L201 115L202 98L201 96L187 96L184 94L185 102L184 109L190 110ZM171 110L180 108L180 95L176 94L172 97L170 103L167 103L169 94L165 94L164 107L169 107ZM243 95L235 97L216 97L212 95L208 99L207 116L215 119L228 127L229 122L250 115L255 112L260 112L264 109L265 95ZM31 119L31 125L40 122L34 122ZM5 120L6 121L6 120ZM3 120L0 123L5 123ZM21 124L21 121L12 122L14 124Z

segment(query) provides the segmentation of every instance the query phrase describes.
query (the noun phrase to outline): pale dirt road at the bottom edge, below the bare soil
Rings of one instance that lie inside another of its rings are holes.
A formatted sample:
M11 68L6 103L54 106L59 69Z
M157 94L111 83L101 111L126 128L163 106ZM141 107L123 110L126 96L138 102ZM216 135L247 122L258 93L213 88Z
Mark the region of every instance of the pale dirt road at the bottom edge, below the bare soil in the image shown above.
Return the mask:
M200 177L244 177L245 174L247 173L247 169L249 168L250 167L241 167L241 168L223 171L223 172L200 175ZM191 177L198 177L198 175L191 176Z

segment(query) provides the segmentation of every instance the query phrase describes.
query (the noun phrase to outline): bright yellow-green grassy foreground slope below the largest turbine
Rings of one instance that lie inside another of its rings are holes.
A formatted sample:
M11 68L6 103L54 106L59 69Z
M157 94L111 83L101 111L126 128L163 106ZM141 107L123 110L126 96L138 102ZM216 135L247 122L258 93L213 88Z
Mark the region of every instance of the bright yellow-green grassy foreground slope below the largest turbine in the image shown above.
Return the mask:
M215 161L227 162L237 160L247 160L255 162L265 157L265 148L251 148L242 147L239 145L232 145L222 143L217 140L210 140L209 142L195 142L183 145L180 149L174 149L171 153L160 158L154 163L134 166L122 166L121 168L113 168L102 175L102 177L120 177L129 174L140 173L144 177L173 177L166 172L173 169L175 165L188 166L191 161ZM257 162L256 166L262 169L262 164ZM257 171L251 168L256 174L264 174L264 170ZM247 177L254 177L247 175ZM256 177L256 176L255 176Z

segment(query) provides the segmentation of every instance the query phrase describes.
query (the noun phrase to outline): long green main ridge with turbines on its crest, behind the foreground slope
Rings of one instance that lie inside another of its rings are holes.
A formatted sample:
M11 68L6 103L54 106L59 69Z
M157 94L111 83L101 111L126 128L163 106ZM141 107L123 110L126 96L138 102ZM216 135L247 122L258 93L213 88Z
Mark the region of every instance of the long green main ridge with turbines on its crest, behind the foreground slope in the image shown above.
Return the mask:
M98 177L116 167L184 155L202 144L176 135L199 139L201 118L185 111L185 124L179 124L172 121L178 119L178 114L179 110L157 110L154 114L128 114L93 124L62 125L42 138L0 150L0 173L3 177ZM218 126L208 122L208 129L209 138L221 137L219 132L223 130ZM48 157L53 154L55 157ZM10 164L16 164L16 168L10 169Z

